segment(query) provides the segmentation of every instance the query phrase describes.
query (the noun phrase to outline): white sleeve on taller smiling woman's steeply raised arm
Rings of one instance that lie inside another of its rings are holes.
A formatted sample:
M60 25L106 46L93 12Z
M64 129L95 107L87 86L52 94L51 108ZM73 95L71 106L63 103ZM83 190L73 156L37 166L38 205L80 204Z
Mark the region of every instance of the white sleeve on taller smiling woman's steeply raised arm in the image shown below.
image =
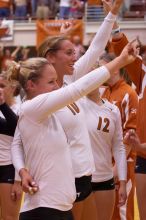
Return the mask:
M72 76L65 76L65 81L68 84L79 79L80 77L91 71L91 69L93 68L99 56L103 53L107 45L115 20L116 20L116 15L113 15L112 13L109 12L109 14L106 16L103 23L99 27L88 50L75 63L74 74Z

